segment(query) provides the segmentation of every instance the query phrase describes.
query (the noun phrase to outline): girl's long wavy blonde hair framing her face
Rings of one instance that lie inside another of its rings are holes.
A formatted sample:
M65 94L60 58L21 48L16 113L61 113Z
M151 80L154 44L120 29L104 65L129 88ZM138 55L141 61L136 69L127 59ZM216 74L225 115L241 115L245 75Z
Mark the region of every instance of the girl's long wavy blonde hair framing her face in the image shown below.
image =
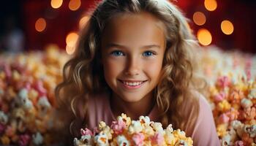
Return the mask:
M148 12L161 20L166 28L167 48L162 76L154 89L161 112L160 122L163 126L172 123L174 128L184 129L188 119L180 110L183 101L191 102L196 109L195 116L189 121L197 119L199 103L192 90L204 85L195 74L192 51L199 45L181 11L167 0L105 0L97 5L81 31L75 55L65 64L64 80L56 88L59 110L64 111L63 119L70 124L75 136L78 128L88 121L89 98L110 91L99 62L102 31L111 18L127 12ZM71 115L67 116L67 113Z

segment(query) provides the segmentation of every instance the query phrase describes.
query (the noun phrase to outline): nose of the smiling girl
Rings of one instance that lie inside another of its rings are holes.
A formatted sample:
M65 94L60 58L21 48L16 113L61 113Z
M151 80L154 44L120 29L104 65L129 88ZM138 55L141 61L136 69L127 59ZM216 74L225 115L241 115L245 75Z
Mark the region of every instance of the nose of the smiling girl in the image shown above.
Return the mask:
M127 58L127 64L125 73L128 76L135 76L140 74L140 61L136 59L135 57Z

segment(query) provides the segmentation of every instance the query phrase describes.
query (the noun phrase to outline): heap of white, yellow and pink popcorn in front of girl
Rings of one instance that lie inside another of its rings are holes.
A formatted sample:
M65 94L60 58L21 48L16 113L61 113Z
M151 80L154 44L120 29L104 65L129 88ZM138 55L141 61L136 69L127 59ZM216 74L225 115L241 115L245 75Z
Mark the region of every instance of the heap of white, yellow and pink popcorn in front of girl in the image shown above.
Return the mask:
M111 126L100 122L94 131L80 129L80 139L74 139L75 146L81 145L192 145L191 137L184 131L173 130L172 125L162 128L161 123L150 121L146 116L131 120L125 114L118 116Z

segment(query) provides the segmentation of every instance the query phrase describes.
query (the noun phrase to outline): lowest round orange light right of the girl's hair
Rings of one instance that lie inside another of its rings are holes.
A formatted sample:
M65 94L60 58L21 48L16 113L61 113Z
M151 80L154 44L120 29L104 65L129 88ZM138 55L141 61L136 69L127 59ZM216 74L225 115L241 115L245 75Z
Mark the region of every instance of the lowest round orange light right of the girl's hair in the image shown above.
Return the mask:
M211 33L205 28L200 28L197 31L197 39L201 45L210 45L211 44Z

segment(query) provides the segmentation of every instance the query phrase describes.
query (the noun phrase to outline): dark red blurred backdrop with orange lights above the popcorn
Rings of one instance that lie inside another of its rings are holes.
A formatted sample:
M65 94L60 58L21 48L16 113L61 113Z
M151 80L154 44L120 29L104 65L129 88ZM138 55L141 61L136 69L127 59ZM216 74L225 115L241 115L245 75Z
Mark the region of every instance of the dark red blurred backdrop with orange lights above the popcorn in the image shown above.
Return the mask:
M55 44L68 52L78 37L81 18L94 3L94 0L3 0L0 50L43 50ZM189 25L201 45L256 53L256 1L173 0L173 3L191 20ZM222 23L223 20L226 21ZM86 23L86 17L81 23Z

